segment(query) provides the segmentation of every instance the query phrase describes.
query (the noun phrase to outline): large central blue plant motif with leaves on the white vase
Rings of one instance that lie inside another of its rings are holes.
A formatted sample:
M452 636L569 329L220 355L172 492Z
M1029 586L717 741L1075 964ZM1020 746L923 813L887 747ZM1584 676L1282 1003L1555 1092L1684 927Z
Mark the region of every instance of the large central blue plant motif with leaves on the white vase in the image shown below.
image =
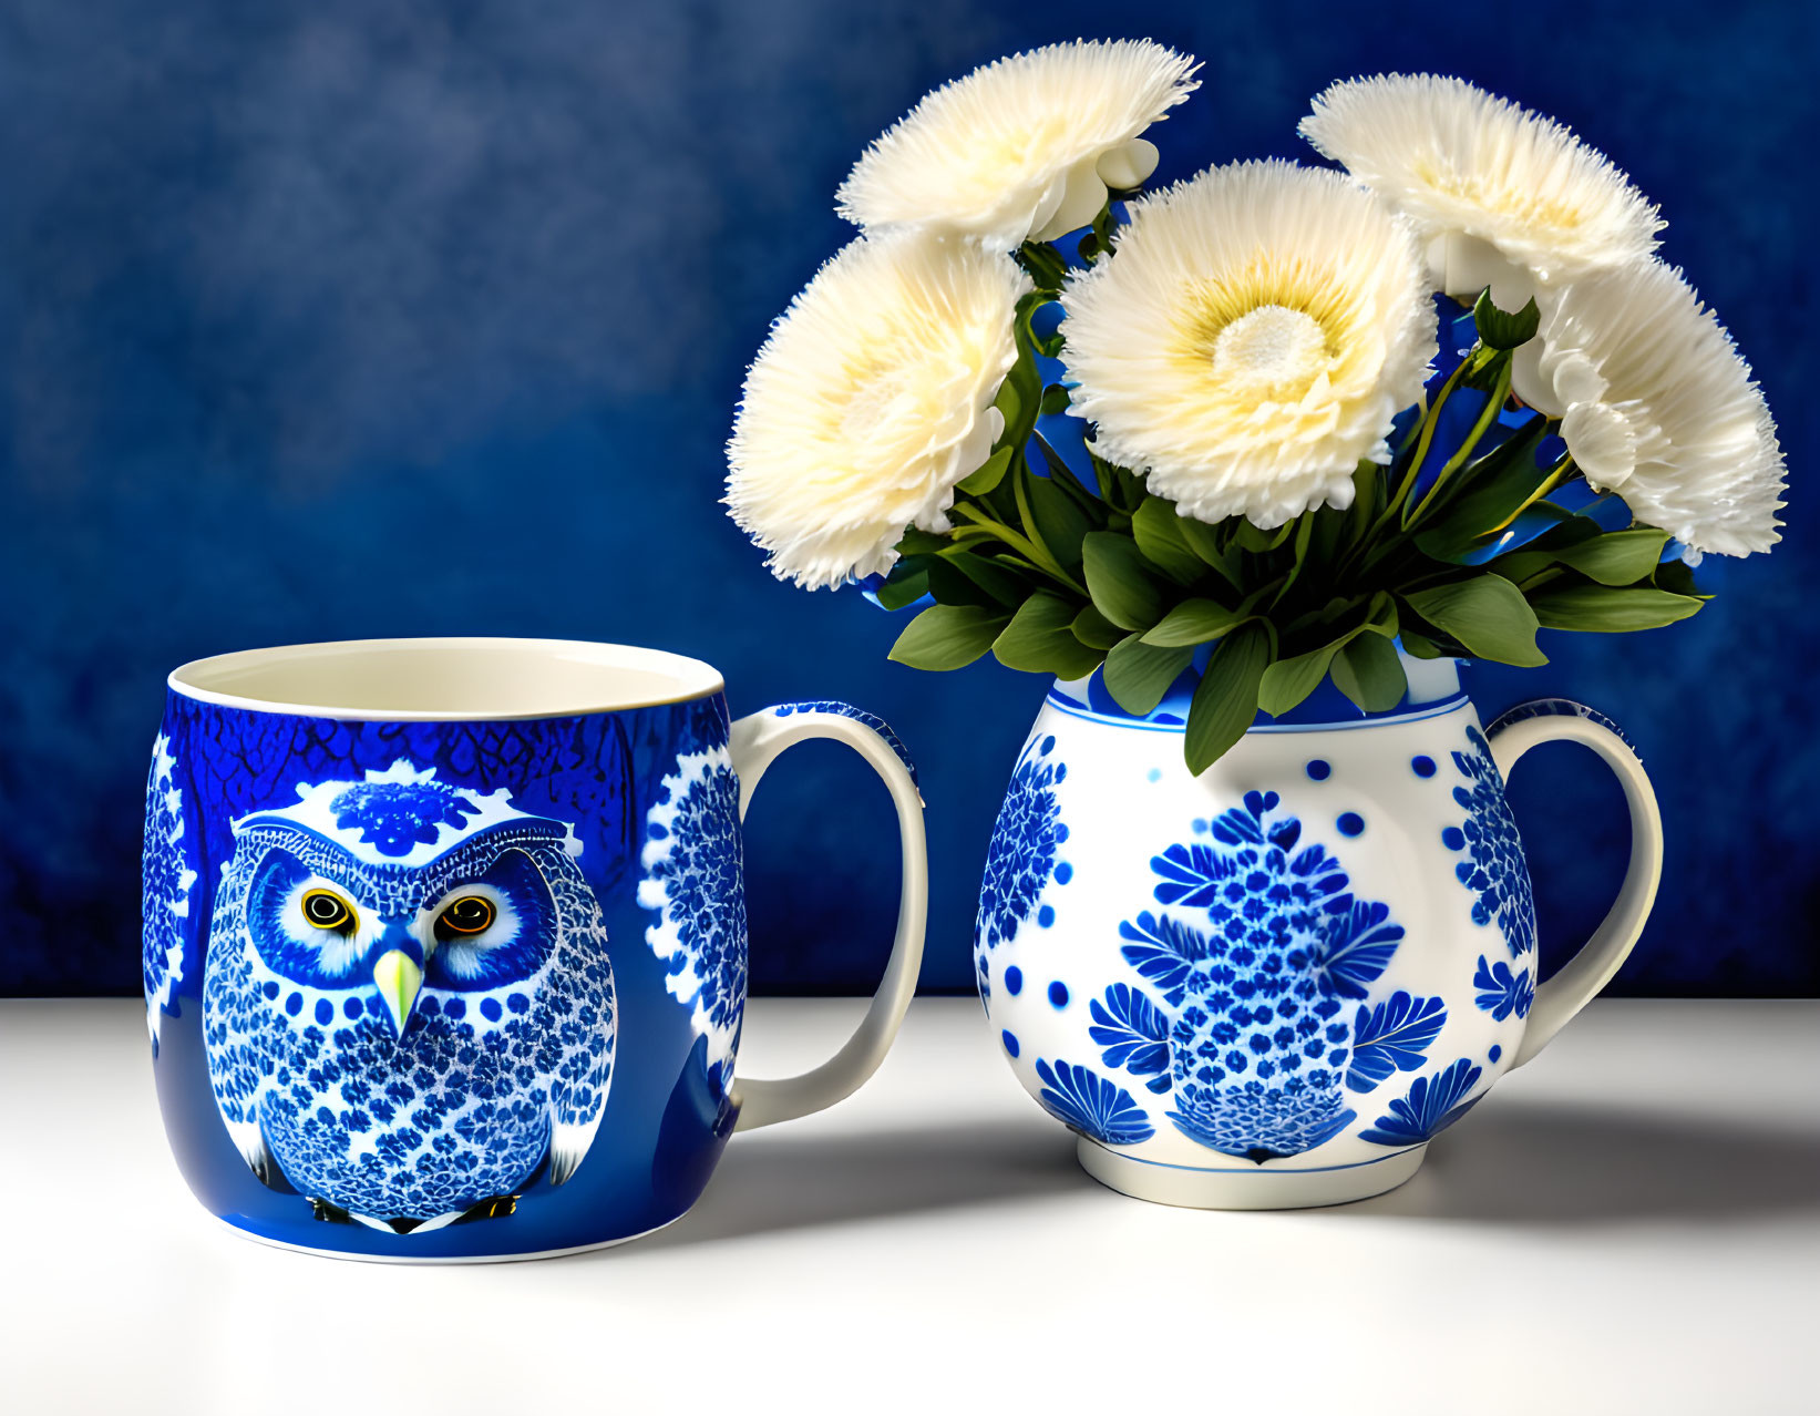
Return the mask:
M1303 843L1299 819L1278 806L1276 792L1249 792L1194 823L1205 839L1152 857L1165 908L1119 934L1163 1006L1116 985L1090 1030L1108 1067L1172 1092L1178 1130L1259 1165L1345 1130L1356 1119L1347 1088L1420 1067L1445 1019L1436 999L1409 994L1345 1017L1403 928L1389 906L1358 899L1340 861Z

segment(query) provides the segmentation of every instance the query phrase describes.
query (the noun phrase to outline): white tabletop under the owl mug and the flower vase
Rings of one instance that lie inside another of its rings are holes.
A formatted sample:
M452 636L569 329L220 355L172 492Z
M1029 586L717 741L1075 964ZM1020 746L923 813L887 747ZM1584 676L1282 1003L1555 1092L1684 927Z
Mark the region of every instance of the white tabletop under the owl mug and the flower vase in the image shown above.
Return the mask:
M794 1070L848 999L759 999ZM1813 1412L1820 1003L1596 1003L1389 1196L1212 1214L1088 1179L970 999L701 1205L542 1263L235 1238L133 1001L0 1003L9 1412Z

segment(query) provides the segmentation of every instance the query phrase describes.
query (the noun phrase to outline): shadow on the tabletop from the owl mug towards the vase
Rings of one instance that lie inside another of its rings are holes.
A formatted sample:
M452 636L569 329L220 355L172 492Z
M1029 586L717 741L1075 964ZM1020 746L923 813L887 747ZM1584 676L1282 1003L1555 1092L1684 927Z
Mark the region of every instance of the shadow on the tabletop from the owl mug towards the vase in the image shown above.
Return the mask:
M1052 1132L1052 1134L1050 1134ZM708 1192L639 1252L753 1234L1036 1199L1092 1187L1059 1127L906 1127L735 1139Z

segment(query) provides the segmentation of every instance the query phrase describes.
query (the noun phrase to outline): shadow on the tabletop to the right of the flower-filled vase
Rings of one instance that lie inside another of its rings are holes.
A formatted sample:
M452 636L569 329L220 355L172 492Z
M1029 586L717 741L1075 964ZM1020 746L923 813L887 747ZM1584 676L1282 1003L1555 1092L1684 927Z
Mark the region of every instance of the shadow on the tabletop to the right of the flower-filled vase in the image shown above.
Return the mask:
M1492 1099L1438 1138L1407 1185L1332 1214L1489 1225L1820 1214L1820 1136Z

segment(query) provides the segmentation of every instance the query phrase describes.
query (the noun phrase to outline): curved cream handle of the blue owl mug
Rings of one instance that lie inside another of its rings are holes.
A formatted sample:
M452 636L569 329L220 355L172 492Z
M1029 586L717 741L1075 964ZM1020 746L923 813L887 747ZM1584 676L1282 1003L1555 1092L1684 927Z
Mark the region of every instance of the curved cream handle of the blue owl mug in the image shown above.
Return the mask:
M733 1081L739 1121L733 1130L753 1130L775 1121L819 1112L852 1096L870 1077L897 1036L905 1010L915 994L923 966L923 932L928 919L928 848L923 839L923 794L915 768L883 719L844 703L783 703L739 719L728 750L739 777L739 817L744 821L752 794L766 768L797 743L832 737L844 743L890 788L903 841L903 888L897 901L897 937L885 965L885 981L872 996L872 1006L846 1045L812 1072L772 1081Z

